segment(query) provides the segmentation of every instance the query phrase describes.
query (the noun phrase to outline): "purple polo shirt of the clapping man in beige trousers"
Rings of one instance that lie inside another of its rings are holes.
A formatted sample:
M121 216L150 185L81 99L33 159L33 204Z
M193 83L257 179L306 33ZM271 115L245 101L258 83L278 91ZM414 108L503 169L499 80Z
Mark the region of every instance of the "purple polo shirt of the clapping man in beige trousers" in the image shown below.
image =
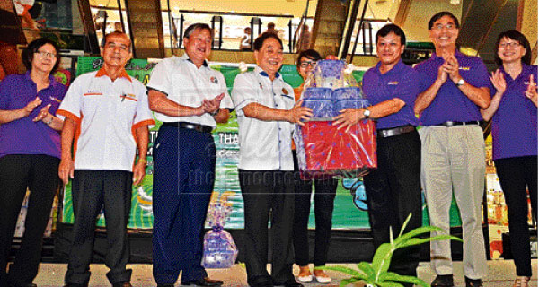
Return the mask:
M481 58L468 57L459 51L455 52L455 57L458 61L459 73L464 81L477 88L490 88L489 72ZM414 67L420 73L420 92L429 89L436 81L438 68L443 64L444 59L433 53L431 58ZM429 107L420 115L422 126L434 126L447 121L469 122L474 120L482 121L479 107L468 99L449 77L447 77L446 83L442 84Z

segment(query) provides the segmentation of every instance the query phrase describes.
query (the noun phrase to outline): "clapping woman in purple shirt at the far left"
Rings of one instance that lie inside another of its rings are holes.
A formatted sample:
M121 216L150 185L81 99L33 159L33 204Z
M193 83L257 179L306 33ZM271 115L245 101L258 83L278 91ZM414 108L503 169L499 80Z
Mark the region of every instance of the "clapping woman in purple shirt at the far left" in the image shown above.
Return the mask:
M57 44L36 39L22 52L28 72L0 82L0 286L35 286L41 238L59 187L60 134L54 114L66 86L50 75L58 66ZM6 273L22 200L30 189L21 248Z

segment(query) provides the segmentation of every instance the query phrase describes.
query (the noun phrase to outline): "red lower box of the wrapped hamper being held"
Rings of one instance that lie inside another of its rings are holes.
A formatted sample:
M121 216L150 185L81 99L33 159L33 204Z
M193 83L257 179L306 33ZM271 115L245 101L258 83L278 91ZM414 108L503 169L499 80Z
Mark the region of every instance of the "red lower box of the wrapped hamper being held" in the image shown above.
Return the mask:
M337 130L331 121L305 122L300 127L303 144L299 144L300 169L305 178L317 175L355 176L375 169L375 124L371 120L360 121L349 129Z

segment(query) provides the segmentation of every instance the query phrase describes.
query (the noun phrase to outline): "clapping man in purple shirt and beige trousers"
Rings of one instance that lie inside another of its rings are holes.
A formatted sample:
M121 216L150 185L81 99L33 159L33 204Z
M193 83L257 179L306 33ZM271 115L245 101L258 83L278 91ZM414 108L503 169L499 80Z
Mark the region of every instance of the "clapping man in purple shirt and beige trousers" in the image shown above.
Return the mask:
M429 21L436 53L415 66L420 95L421 186L429 206L430 224L449 232L452 194L463 222L466 286L482 286L486 274L482 233L485 152L480 122L490 104L490 81L479 57L456 49L459 24L455 15L440 12ZM454 286L449 240L430 243L437 278L431 286Z

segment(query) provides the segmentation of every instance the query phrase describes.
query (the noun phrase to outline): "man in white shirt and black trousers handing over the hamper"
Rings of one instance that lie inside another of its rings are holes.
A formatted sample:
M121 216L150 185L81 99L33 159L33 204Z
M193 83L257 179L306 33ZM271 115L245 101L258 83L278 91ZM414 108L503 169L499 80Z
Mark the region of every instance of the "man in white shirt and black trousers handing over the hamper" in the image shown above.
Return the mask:
M277 34L255 39L254 71L239 74L232 99L238 118L238 164L245 216L245 265L250 286L302 286L292 274L294 217L293 123L312 117L312 110L295 105L294 90L283 81L283 45ZM271 210L272 266L268 262L268 222Z

